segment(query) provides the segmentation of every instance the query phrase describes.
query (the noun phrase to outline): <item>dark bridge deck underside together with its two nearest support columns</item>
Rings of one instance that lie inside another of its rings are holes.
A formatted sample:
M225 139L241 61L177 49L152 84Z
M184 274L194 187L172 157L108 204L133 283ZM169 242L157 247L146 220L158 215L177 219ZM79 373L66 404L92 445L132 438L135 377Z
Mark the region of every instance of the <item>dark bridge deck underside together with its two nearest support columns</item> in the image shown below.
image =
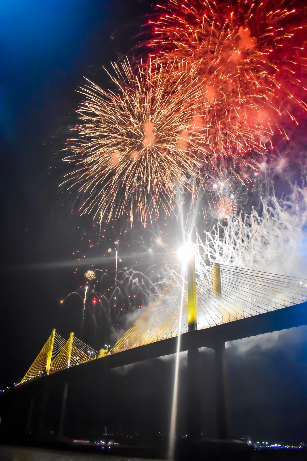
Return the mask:
M219 439L227 439L225 343L301 325L307 325L307 302L203 330L190 331L181 335L180 351L188 351L188 432L191 439L199 437L201 432L201 414L198 398L200 385L198 383L198 370L200 366L198 350L206 347L215 351L217 437ZM92 361L92 366L108 371L119 366L175 354L177 351L177 342L178 337L171 337L132 349L122 350L121 352L107 355L103 360ZM73 372L73 369L71 370Z

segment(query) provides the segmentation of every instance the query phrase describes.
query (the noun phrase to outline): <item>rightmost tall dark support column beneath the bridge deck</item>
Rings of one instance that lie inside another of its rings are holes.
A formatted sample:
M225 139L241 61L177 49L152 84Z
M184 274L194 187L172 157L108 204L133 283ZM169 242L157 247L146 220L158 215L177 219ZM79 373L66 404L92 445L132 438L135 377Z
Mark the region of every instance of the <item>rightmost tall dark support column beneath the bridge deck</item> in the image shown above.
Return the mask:
M215 348L215 377L216 377L216 421L217 436L219 439L227 438L227 405L225 390L225 343L220 341Z

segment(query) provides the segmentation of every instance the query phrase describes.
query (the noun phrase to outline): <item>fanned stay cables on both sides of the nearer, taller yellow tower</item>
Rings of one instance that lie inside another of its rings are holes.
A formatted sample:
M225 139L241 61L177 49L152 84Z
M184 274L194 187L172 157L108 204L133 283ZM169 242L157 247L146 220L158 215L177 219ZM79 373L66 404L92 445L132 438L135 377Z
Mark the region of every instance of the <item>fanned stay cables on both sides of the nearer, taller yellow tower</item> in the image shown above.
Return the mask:
M307 301L307 281L242 267L195 261L197 329L210 328ZM220 288L217 289L217 286ZM183 302L182 302L183 299ZM174 279L111 349L120 352L188 331L187 284Z

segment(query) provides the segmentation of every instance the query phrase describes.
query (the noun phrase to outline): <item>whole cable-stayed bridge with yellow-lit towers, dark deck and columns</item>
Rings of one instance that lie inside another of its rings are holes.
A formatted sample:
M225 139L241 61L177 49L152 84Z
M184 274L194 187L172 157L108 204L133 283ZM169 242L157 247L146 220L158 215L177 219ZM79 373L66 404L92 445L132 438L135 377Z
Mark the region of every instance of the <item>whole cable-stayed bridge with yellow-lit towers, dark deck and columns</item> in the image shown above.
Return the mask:
M208 266L191 258L183 274L174 277L141 311L110 351L95 351L72 333L65 340L53 330L19 384L68 368L77 379L83 369L77 365L85 362L110 370L187 350L188 419L191 434L195 435L200 433L199 393L195 386L198 351L201 347L211 348L215 351L217 431L219 438L226 438L225 343L300 325L307 325L306 279L218 263ZM84 368L84 372L89 369ZM67 394L67 384L65 389Z

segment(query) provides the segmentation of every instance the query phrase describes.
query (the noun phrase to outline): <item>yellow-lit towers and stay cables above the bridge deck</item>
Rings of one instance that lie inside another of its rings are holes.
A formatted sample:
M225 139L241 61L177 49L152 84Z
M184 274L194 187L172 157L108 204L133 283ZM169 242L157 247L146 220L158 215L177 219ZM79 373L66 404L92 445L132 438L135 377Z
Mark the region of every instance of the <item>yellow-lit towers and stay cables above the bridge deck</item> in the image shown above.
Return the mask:
M18 384L127 349L307 301L307 281L268 272L190 260L107 353L55 330Z

